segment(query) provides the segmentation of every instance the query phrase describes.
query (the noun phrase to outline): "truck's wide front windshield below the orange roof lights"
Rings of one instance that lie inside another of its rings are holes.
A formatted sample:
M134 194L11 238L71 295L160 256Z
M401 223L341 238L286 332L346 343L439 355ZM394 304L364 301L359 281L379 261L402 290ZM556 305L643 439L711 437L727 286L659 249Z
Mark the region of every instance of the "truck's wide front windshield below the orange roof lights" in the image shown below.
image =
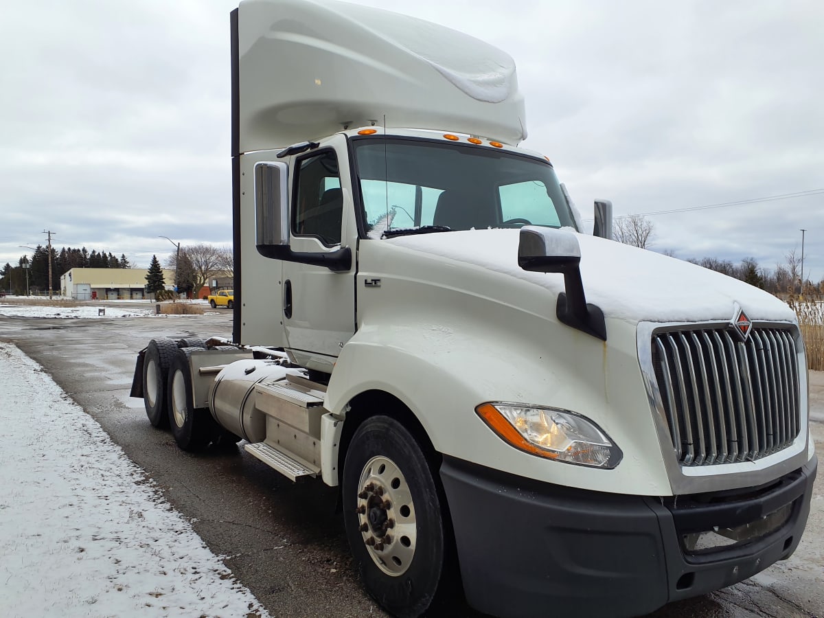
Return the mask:
M436 226L575 227L549 162L491 147L354 139L367 236Z

